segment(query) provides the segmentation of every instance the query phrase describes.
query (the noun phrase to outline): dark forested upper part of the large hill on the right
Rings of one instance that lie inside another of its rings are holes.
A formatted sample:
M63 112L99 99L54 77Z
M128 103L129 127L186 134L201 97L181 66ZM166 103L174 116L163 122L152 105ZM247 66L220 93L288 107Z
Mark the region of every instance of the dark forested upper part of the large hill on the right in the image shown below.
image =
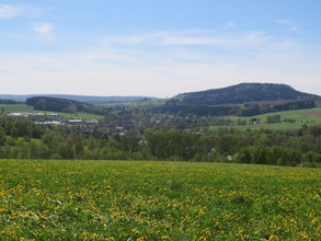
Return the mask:
M179 94L184 104L219 105L262 101L320 101L321 96L296 91L286 84L240 83L227 88Z

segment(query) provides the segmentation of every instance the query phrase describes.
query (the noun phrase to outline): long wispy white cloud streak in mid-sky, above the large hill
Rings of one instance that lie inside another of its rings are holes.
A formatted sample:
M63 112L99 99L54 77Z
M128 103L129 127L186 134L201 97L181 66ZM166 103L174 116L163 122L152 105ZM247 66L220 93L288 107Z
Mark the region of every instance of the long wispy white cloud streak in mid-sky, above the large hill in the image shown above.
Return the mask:
M265 44L272 43L274 36L264 32L216 32L209 30L183 31L183 32L157 32L151 34L135 34L123 37L106 37L103 43L106 46L131 45L139 47L150 45L156 48L187 47L193 45L223 48L227 50L249 51L260 49ZM142 46L142 45L141 45Z

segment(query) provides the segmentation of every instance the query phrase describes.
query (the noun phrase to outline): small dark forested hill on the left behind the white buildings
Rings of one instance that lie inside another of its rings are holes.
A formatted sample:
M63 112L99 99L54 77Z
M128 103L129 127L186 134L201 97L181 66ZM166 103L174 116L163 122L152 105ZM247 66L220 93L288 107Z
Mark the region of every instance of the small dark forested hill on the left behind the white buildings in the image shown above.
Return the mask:
M60 97L34 96L26 99L27 105L34 106L36 111L66 112L66 113L91 113L105 115L107 110L98 105L78 102Z

